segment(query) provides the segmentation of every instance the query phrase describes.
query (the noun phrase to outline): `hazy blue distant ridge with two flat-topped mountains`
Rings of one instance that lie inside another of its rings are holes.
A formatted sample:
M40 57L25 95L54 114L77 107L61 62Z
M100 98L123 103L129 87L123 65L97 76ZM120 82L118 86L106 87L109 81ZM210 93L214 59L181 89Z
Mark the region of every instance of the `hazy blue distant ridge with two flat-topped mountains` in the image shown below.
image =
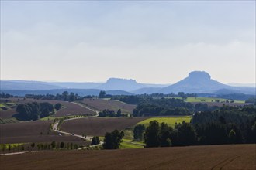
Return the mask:
M16 93L62 93L63 90L78 91L79 95L98 95L100 90L114 95L150 93L244 93L256 95L256 87L232 87L211 79L205 71L192 71L189 76L172 85L137 83L132 79L110 78L106 83L40 82L23 80L1 80L0 91L15 90ZM50 90L50 91L47 91ZM62 92L61 92L62 91ZM13 91L12 91L13 92Z

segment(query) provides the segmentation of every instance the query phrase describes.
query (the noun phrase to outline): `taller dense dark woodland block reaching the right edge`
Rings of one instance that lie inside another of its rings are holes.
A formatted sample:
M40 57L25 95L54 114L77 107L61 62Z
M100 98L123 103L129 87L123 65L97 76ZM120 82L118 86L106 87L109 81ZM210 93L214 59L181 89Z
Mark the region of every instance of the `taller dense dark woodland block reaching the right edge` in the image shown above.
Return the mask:
M192 124L199 145L256 142L256 107L227 107L196 113Z

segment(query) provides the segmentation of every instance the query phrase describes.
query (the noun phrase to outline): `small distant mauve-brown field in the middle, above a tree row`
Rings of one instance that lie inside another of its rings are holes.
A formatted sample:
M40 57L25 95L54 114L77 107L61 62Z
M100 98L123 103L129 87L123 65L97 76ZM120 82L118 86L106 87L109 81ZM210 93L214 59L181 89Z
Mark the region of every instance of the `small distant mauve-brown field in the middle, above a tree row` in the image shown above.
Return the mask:
M82 104L86 104L96 110L122 110L123 113L133 113L133 109L137 106L134 104L126 104L116 100L103 100L103 99L84 99L81 100Z

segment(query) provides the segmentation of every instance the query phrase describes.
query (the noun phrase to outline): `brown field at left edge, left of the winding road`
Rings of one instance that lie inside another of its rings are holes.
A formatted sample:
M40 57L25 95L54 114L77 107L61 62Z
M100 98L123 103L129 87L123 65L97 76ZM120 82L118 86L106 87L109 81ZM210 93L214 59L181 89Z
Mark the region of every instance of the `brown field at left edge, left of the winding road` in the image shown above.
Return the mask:
M15 124L0 124L0 144L26 143L26 142L83 142L73 136L59 136L50 131L52 121L30 121ZM42 135L40 134L42 132ZM49 132L49 134L48 134Z

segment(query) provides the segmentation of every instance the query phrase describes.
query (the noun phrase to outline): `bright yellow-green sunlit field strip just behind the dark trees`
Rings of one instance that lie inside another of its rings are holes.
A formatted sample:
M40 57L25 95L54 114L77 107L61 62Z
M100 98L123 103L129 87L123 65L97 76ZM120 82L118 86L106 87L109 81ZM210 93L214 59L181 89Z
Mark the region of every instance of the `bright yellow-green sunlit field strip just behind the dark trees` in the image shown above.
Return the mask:
M192 119L192 116L152 117L152 118L148 118L144 121L140 121L137 124L144 124L147 127L149 125L150 121L156 120L159 122L159 124L161 124L162 122L165 122L172 128L175 128L175 123L177 123L177 124L182 123L182 121L189 123L191 119Z

